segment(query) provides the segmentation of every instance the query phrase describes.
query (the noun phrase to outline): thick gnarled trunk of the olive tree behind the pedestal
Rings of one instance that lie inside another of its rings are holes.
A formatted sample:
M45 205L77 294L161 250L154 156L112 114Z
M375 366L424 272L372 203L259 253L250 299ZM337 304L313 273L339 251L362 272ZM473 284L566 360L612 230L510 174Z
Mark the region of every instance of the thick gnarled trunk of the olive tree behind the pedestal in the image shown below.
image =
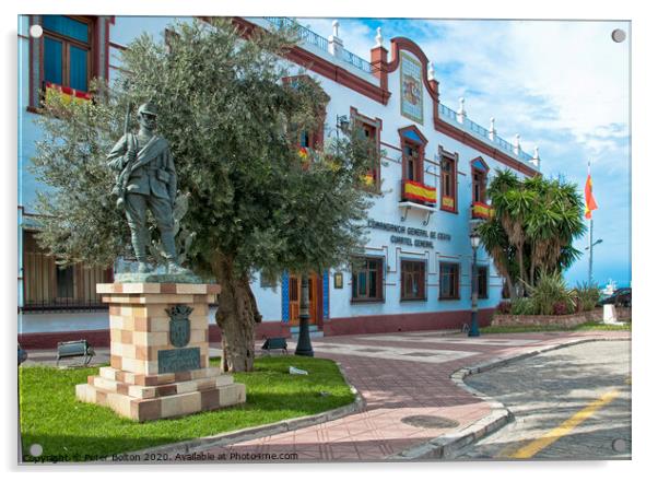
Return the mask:
M249 279L236 277L231 259L221 257L213 266L222 291L215 321L222 332L222 368L224 372L252 371L254 331L260 320Z

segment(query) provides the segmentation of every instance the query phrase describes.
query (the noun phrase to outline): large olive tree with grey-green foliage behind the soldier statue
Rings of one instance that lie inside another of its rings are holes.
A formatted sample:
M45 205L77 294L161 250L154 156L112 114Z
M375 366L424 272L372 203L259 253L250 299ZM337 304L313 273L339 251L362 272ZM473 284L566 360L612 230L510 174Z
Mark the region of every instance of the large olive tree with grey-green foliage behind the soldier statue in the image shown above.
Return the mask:
M207 19L171 32L166 45L148 35L132 42L121 78L97 83L93 103L46 98L34 171L52 189L39 199L40 241L62 262L106 266L126 255L105 155L127 107L154 102L186 201L186 267L221 284L224 367L249 371L260 321L254 274L320 271L360 250L364 176L377 153L354 126L322 149L299 150L299 132L324 128L328 97L308 77L282 81L292 77L282 59L294 28L246 32Z

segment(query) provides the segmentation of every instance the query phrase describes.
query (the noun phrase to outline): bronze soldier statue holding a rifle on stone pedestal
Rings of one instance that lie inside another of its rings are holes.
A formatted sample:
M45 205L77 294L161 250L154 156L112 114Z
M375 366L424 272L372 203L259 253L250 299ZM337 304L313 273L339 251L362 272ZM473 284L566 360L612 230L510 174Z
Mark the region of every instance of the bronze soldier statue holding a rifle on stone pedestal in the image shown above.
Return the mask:
M176 169L167 141L154 133L156 116L157 110L153 104L140 105L137 112L139 132L126 132L107 155L107 165L119 173L113 193L118 196L117 206L126 209L139 272L149 272L149 209L157 223L167 259L167 272L187 273L187 269L183 269L177 262L174 243Z

